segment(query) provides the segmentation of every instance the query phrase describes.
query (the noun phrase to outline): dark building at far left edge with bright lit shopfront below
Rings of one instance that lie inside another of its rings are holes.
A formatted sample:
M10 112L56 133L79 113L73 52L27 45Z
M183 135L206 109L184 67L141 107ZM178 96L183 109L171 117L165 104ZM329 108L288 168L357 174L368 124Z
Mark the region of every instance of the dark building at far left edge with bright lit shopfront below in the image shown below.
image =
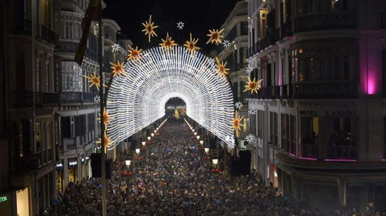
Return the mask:
M53 0L1 2L1 213L39 215L55 197Z

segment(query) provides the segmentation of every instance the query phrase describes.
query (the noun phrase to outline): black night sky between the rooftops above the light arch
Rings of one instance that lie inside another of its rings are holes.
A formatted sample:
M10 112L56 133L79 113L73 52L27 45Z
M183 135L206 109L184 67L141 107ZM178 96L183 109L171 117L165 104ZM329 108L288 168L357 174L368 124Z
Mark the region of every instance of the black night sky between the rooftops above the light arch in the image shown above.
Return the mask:
M198 47L204 53L215 49L215 45L205 45L208 40L208 30L220 28L232 11L238 0L104 0L107 7L103 10L103 17L115 20L121 27L122 33L135 46L148 48L161 43L166 32L179 45L189 39L189 33L198 37ZM158 37L147 41L147 35L141 32L142 22L149 20L152 15ZM177 22L182 21L185 27L177 29Z

